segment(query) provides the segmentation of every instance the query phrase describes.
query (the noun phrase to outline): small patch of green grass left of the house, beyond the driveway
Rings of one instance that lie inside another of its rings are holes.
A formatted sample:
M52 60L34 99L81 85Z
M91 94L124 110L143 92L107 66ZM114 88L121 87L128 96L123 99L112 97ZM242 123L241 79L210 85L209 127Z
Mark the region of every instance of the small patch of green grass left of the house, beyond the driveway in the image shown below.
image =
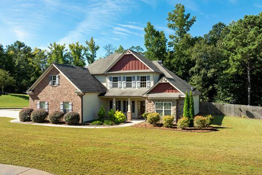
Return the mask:
M29 96L25 94L0 95L0 108L23 108L29 106Z

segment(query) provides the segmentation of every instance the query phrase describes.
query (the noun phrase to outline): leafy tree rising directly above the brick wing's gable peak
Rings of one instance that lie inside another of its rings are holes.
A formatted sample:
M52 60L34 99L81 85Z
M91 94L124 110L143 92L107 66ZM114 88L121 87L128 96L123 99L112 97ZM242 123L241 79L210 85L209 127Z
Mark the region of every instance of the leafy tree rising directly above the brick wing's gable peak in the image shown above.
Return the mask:
M48 48L47 65L50 65L51 63L69 64L67 54L68 49L65 49L65 44L60 45L53 42L53 44L50 43Z

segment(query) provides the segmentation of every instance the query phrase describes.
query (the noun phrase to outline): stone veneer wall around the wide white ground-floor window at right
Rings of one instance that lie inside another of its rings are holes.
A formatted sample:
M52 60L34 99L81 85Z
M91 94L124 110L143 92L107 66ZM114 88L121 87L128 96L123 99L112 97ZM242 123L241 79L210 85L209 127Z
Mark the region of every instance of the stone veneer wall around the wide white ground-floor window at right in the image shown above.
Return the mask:
M170 99L170 100L156 100L146 99L146 112L155 112L155 102L172 102L172 113L175 116L175 120L183 116L184 99Z

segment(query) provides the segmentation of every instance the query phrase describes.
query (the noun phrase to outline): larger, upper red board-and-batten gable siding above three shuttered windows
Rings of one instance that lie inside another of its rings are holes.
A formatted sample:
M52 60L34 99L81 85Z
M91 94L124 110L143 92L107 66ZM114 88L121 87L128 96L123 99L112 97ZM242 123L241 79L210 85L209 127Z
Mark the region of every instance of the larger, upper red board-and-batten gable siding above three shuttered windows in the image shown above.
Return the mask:
M126 54L109 70L109 72L135 70L149 70L149 68L133 54Z

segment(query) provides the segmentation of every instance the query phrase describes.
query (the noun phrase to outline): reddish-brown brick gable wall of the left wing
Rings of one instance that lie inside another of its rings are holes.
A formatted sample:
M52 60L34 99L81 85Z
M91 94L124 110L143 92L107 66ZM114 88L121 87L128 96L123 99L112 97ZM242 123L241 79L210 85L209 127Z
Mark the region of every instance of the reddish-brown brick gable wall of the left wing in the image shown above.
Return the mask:
M59 85L49 86L49 75L59 75ZM38 101L48 102L48 112L60 111L60 102L72 102L72 110L81 113L81 96L76 95L76 87L74 87L56 68L52 68L50 72L39 82L34 88L34 94L29 95L30 107L37 109Z

